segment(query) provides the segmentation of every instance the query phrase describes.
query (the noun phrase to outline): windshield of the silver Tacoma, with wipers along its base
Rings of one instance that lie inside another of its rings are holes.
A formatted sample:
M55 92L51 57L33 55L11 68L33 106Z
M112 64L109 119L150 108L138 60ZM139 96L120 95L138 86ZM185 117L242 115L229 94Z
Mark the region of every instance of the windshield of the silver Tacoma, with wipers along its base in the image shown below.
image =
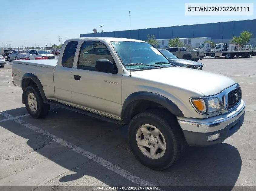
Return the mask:
M127 70L138 70L147 68L171 67L168 59L166 59L158 49L149 43L115 41L111 42L123 65ZM130 47L131 44L131 47ZM131 49L131 55L130 55ZM130 57L131 56L131 57ZM128 65L131 63L142 63L148 65ZM153 66L152 66L153 65ZM155 66L154 66L155 65Z

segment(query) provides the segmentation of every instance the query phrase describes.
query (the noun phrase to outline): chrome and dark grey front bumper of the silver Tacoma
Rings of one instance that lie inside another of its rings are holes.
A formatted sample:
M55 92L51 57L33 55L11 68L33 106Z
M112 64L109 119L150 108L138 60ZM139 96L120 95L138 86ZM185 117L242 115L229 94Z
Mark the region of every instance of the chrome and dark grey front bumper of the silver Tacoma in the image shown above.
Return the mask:
M178 117L178 123L189 146L208 146L221 142L240 129L244 123L245 103L240 104L230 113L206 119L191 119ZM214 141L208 141L208 136L220 134Z

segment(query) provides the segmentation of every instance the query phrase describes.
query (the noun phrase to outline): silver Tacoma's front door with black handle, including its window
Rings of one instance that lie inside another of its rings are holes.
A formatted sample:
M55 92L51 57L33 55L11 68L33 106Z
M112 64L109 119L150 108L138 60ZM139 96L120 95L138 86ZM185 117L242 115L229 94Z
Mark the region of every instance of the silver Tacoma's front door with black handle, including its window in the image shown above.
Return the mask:
M123 71L116 71L113 74L97 72L95 63L98 59L108 59L116 67L108 47L103 42L84 41L77 65L71 74L73 103L99 114L119 118Z

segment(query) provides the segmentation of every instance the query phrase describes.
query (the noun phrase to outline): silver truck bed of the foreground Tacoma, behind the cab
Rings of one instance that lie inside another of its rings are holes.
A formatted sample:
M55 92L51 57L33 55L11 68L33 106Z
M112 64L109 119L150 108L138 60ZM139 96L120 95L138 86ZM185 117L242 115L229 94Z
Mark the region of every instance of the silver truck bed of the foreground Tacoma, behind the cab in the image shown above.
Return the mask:
M52 98L54 94L53 73L58 60L14 60L12 61L13 82L21 87L22 76L35 75L41 82L45 96ZM30 74L28 74L30 73Z

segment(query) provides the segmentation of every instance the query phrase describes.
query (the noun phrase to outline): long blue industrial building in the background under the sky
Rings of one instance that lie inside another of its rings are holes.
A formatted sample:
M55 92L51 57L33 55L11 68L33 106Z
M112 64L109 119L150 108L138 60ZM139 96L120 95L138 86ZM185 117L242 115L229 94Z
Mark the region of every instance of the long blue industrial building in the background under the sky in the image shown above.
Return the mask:
M200 38L211 37L215 43L229 43L233 36L240 36L241 31L248 30L253 33L250 44L256 42L256 19L244 21L229 21L208 24L193 24L173 27L159 27L138 30L122 30L103 33L80 34L80 37L119 37L138 40L147 40L147 35L155 35L156 39ZM130 36L131 35L131 36Z

